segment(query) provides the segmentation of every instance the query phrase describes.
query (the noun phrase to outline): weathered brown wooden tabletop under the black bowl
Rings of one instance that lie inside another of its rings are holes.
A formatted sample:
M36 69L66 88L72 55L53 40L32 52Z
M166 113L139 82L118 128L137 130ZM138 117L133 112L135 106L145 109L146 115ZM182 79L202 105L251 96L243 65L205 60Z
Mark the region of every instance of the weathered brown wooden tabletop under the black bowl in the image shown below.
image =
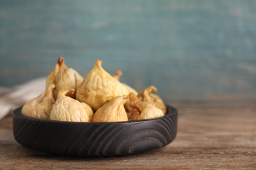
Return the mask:
M256 107L179 108L173 143L112 158L72 158L32 150L0 121L0 169L256 169Z

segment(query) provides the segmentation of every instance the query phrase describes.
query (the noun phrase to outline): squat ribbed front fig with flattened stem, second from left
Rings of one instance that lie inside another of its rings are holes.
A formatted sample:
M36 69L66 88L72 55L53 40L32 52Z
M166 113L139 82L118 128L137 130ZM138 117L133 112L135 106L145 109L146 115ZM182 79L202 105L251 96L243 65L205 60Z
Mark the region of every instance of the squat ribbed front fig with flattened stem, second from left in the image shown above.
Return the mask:
M60 90L53 109L51 110L51 120L68 122L92 122L93 110L86 103L77 101L68 93L74 94L75 89Z

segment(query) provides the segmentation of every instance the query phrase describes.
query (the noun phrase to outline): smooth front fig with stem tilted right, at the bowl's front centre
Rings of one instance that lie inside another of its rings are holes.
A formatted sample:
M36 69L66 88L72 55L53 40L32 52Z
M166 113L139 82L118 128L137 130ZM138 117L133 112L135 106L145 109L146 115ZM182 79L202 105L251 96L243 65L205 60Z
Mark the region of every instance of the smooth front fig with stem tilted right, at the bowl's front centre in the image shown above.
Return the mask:
M128 95L116 96L100 107L93 116L93 122L124 122L127 121L127 114L123 101Z

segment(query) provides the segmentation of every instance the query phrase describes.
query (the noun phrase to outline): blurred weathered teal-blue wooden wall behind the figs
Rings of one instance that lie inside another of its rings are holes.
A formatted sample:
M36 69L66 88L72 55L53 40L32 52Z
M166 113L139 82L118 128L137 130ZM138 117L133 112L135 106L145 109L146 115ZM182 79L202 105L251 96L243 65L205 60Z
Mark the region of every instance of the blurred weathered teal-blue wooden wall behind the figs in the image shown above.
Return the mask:
M0 86L96 59L176 106L256 104L256 1L0 0Z

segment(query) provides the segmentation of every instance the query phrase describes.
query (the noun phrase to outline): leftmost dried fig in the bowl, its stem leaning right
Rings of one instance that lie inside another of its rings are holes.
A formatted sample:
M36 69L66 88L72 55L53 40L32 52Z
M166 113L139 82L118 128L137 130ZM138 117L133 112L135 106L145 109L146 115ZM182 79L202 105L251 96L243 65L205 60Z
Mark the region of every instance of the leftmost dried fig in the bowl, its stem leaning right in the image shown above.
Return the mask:
M51 110L53 108L54 99L53 99L53 89L55 88L54 84L50 84L38 97L35 97L22 107L22 114L30 116L33 118L40 118L49 120Z

